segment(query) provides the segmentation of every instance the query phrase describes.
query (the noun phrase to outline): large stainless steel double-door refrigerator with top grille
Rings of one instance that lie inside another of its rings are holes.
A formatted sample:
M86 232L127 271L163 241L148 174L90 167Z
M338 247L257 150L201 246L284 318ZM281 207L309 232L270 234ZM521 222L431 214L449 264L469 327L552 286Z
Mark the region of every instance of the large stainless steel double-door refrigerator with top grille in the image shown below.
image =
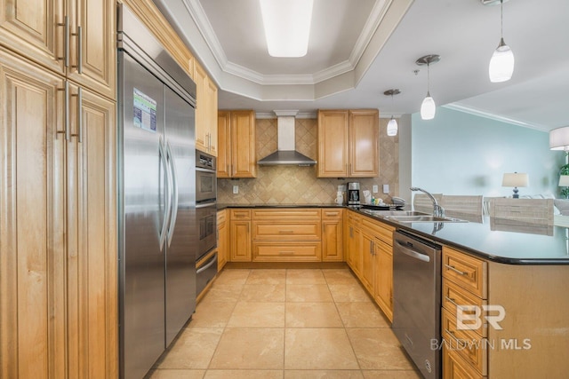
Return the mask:
M196 84L117 21L120 376L140 378L196 309Z

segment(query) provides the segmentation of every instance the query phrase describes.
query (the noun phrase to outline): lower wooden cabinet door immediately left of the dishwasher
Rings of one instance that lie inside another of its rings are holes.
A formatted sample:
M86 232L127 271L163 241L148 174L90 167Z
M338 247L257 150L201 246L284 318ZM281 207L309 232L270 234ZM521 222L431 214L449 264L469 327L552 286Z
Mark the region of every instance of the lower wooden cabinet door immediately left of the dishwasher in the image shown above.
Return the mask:
M373 297L389 321L393 320L393 248L375 241L375 280Z

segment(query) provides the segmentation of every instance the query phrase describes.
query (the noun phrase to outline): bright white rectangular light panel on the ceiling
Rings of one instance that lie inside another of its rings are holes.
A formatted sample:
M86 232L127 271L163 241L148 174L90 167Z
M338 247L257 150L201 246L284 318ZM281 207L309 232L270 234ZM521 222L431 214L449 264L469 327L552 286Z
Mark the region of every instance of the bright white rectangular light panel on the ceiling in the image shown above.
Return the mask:
M309 49L313 0L259 0L272 57L304 57Z

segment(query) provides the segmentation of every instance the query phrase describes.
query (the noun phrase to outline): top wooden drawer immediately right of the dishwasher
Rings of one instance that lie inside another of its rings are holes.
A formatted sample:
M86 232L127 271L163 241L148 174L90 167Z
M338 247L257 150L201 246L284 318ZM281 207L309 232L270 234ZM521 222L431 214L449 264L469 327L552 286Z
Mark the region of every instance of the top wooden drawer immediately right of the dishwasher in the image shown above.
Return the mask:
M443 277L483 299L488 297L487 270L488 265L485 261L443 247Z

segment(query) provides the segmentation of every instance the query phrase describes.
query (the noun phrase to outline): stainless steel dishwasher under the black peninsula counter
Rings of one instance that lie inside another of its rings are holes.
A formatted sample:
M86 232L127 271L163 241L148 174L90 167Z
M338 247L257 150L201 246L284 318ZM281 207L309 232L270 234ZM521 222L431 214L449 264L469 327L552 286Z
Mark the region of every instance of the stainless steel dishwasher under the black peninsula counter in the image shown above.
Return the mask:
M393 324L425 378L441 376L441 247L413 233L393 233Z

